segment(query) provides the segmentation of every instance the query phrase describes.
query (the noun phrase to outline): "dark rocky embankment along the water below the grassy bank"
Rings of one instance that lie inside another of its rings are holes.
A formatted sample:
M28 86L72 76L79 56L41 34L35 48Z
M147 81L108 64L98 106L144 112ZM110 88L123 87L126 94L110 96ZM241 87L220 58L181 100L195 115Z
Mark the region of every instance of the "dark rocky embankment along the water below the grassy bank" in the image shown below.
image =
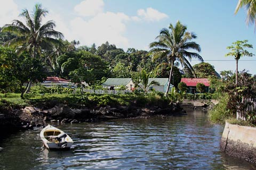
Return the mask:
M151 106L141 108L137 106L70 108L68 105L58 104L51 108L36 108L28 106L23 109L9 111L0 120L2 126L13 126L22 129L32 129L42 126L46 121L60 123L95 122L115 118L149 118L156 115L181 115L186 113L179 105L161 108Z

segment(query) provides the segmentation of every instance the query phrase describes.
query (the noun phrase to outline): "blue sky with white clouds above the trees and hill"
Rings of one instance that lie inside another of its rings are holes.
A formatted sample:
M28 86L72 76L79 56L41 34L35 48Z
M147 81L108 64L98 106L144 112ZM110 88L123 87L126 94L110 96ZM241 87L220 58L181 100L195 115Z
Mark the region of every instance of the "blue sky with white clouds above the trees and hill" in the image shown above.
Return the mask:
M65 39L81 45L100 46L108 41L118 48L149 50L162 28L179 20L197 35L196 43L205 62L215 70L235 72L234 57L225 57L237 40L249 40L256 55L254 25L246 25L244 8L234 14L238 0L0 0L0 27L11 23L23 9L33 11L36 3L49 11L45 21L55 21ZM43 21L43 22L45 22ZM191 61L191 65L199 63ZM256 74L256 56L243 57L238 71Z

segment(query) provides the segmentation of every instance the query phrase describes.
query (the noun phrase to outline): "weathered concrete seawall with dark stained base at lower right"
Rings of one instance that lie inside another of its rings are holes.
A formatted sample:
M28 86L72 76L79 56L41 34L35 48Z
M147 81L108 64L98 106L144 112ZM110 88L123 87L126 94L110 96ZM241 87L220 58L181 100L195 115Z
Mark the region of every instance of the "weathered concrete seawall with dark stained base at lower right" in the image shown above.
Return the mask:
M226 122L220 147L230 156L256 163L256 128Z

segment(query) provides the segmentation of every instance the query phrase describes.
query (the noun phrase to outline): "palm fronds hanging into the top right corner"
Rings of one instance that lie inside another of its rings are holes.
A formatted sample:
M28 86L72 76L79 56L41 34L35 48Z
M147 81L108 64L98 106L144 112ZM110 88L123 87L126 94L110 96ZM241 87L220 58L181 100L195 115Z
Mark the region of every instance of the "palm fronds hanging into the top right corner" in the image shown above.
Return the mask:
M235 14L243 6L245 6L247 11L247 19L246 19L247 25L249 23L256 24L256 20L255 20L256 19L256 1L255 0L239 0L236 5Z

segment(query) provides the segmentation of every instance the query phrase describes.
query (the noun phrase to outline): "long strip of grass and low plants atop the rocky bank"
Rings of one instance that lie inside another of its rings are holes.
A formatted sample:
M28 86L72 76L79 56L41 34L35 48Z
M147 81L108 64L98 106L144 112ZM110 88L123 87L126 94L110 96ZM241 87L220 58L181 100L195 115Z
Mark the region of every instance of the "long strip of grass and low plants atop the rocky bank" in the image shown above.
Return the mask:
M150 105L168 105L168 101L161 96L151 94L148 96L123 94L123 95L97 95L97 94L25 94L25 99L20 98L20 94L9 93L0 94L0 107L26 107L37 106L53 107L57 104L66 104L69 107L79 108L100 107L100 106L150 106Z

